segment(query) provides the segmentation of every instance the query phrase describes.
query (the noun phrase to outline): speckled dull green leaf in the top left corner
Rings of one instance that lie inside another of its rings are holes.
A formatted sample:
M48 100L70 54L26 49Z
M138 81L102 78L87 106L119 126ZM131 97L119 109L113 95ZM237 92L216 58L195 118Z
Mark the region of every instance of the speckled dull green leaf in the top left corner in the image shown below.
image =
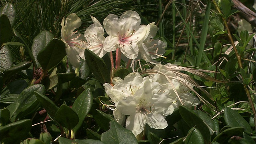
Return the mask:
M13 26L16 17L16 9L14 8L13 4L8 3L4 7L2 7L1 15L2 14L5 14L8 17L11 26Z

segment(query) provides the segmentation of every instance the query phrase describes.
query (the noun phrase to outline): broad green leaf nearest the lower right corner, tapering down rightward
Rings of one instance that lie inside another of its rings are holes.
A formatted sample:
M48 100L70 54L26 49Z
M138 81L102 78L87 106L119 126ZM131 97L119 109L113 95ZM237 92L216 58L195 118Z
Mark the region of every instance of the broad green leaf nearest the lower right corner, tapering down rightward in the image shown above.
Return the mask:
M248 124L248 122L246 122L246 120L240 114L238 114L231 108L224 108L224 120L229 126L240 126L244 128L244 131L252 133L252 128L250 127L250 124Z

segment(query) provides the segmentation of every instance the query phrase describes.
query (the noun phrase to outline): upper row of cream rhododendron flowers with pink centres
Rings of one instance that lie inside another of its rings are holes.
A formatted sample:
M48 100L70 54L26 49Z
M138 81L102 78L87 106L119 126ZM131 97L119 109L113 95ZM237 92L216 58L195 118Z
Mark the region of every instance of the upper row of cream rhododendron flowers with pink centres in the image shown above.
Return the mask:
M94 24L91 24L83 34L77 34L75 29L81 26L81 20L76 14L70 14L66 20L62 20L62 40L66 44L67 57L70 63L78 68L80 57L84 57L84 49L89 49L99 57L106 52L120 49L128 59L144 59L146 62L156 63L165 52L166 42L154 40L157 26L153 23L140 24L140 16L137 12L126 11L120 18L109 14L100 22L91 16ZM65 25L64 25L65 22ZM109 35L104 37L104 29Z

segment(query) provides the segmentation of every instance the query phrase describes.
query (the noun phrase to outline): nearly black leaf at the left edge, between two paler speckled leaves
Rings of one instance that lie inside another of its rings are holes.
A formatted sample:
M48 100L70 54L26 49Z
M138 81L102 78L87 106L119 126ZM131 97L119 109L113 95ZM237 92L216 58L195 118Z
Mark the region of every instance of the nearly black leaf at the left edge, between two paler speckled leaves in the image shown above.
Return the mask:
M12 26L8 17L5 14L0 16L0 45L7 42L9 38L13 35Z

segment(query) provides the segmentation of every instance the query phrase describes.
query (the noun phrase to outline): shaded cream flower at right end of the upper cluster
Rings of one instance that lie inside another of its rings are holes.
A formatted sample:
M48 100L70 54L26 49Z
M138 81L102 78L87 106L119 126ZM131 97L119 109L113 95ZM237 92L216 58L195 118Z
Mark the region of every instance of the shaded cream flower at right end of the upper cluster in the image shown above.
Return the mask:
M157 26L154 22L148 24L150 27L150 33L148 37L143 41L143 43L139 46L139 54L142 59L146 62L151 62L156 64L156 58L162 56L165 53L165 48L167 47L167 43L162 40L154 40L154 36L157 33Z

